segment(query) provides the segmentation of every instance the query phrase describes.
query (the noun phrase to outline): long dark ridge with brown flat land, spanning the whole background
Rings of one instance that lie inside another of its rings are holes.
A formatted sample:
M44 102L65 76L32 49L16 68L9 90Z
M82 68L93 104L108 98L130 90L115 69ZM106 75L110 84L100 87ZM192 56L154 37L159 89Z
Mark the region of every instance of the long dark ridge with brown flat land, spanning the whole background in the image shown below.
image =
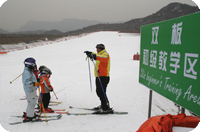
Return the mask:
M165 21L189 15L199 11L200 9L198 8L198 6L190 6L187 4L181 4L176 2L168 4L167 6L161 8L159 11L151 15L148 15L143 18L132 19L124 23L112 23L112 24L98 23L96 25L90 25L87 27L82 27L80 29L64 33L55 28L54 29L52 28L51 30L48 31L36 30L36 31L23 31L12 34L0 33L0 38L1 38L0 44L30 42L30 41L33 42L38 39L45 40L44 38L48 38L48 40L55 40L56 38L60 37L80 35L83 33L91 33L96 31L120 31L120 32L140 33L140 27L143 25Z

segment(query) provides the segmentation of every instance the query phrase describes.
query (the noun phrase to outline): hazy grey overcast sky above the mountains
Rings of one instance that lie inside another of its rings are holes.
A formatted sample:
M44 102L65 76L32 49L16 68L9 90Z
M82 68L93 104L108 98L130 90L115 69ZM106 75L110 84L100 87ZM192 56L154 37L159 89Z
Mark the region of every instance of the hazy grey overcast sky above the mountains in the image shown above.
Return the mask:
M0 7L0 28L14 31L29 20L65 18L125 22L151 15L172 2L197 6L192 0L7 0Z

